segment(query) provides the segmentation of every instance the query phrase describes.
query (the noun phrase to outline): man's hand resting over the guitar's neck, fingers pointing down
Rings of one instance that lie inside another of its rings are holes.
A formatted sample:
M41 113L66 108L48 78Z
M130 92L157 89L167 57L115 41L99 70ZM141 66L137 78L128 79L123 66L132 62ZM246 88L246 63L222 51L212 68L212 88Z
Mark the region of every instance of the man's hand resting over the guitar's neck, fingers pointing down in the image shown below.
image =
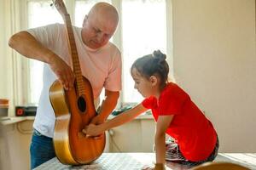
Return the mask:
M49 61L49 66L55 75L58 77L61 85L66 89L73 88L74 75L70 66L58 56L52 56Z

